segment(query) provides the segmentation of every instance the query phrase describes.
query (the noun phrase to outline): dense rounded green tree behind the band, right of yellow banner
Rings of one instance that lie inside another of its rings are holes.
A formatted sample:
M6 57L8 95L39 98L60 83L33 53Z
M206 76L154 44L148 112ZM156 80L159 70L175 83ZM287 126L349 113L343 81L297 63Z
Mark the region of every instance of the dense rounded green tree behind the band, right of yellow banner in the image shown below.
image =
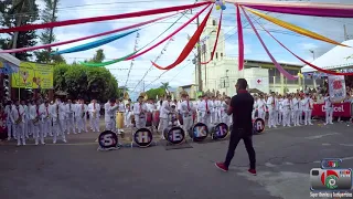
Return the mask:
M54 66L54 90L67 92L71 98L107 102L118 97L118 82L104 67L58 64Z

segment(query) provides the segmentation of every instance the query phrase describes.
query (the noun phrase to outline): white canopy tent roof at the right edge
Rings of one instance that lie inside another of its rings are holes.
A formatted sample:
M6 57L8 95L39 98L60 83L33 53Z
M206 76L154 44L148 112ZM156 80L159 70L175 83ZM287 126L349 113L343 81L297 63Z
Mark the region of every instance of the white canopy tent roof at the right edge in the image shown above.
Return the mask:
M353 40L343 44L353 46ZM313 65L324 70L338 70L353 66L353 48L338 45L312 62ZM301 73L315 72L310 65L301 67Z

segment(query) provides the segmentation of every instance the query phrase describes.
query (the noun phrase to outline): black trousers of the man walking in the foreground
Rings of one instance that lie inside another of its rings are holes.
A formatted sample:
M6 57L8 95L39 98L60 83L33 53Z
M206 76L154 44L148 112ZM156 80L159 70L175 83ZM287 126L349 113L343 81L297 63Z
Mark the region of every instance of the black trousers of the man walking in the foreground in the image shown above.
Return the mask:
M225 158L224 164L226 167L231 165L236 146L238 145L240 139L244 140L247 155L249 156L250 169L255 169L256 155L255 155L255 149L253 147L253 133L252 130L245 130L244 128L237 128L232 130L228 151L227 151L227 156Z

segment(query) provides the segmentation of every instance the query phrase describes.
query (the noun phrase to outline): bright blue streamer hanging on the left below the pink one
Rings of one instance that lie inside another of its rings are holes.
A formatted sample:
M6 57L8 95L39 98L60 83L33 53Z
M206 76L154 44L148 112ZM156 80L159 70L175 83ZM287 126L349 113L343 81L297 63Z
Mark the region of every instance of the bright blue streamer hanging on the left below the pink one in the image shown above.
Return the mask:
M56 52L53 52L52 55L87 51L87 50L90 50L90 49L94 49L94 48L110 43L110 42L113 42L115 40L125 38L125 36L129 35L129 34L131 34L131 33L133 33L133 32L136 32L138 30L133 30L133 31L126 32L126 33L122 33L122 34L117 34L117 35L114 35L114 36L109 36L109 38L105 38L105 39L101 39L101 40L93 41L93 42L85 43L85 44L82 44L82 45L73 46L73 48L69 48L69 49L66 49L66 50L63 50L63 51L56 51Z

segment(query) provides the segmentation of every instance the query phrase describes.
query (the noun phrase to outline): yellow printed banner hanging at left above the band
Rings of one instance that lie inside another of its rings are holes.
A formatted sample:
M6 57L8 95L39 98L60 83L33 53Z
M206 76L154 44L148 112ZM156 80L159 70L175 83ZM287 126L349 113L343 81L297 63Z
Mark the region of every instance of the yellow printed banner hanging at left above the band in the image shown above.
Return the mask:
M12 73L11 87L53 88L53 66L21 62L19 72Z

